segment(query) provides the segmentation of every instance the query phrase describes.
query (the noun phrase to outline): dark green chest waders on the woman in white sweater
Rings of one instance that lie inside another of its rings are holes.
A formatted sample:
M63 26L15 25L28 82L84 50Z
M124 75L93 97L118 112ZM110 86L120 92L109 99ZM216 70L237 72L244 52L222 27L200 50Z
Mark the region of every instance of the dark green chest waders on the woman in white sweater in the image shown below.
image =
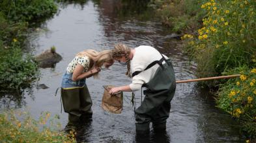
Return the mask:
M165 61L164 64L162 62ZM175 94L176 82L175 72L171 60L166 60L164 56L159 61L153 61L145 69L158 64L154 77L143 84L147 87L143 93L145 98L140 107L135 109L135 126L137 133L149 132L149 123L152 122L154 129L165 129L166 120L169 117L171 109L171 100ZM144 71L145 71L144 70ZM141 71L135 71L132 76L139 74Z

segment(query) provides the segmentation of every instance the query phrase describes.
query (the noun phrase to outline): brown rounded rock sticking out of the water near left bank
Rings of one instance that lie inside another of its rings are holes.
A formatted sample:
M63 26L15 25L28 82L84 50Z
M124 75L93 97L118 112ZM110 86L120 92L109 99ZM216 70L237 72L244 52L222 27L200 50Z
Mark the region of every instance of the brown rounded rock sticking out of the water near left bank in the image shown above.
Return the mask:
M51 47L50 50L46 50L42 54L35 57L35 60L39 63L39 67L55 67L55 64L62 60L60 54L55 52L55 47Z

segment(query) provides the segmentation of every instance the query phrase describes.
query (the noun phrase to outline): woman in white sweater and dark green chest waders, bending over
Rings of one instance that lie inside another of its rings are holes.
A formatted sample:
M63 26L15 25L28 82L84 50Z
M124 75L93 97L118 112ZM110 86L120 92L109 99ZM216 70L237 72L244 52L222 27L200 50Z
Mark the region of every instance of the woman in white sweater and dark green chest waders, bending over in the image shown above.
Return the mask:
M130 49L126 45L115 45L113 58L121 64L127 64L126 75L132 71L132 83L112 88L109 93L119 91L138 91L147 87L145 98L135 109L136 131L149 132L149 123L154 129L165 129L166 119L171 109L171 99L175 94L175 72L171 60L150 46Z

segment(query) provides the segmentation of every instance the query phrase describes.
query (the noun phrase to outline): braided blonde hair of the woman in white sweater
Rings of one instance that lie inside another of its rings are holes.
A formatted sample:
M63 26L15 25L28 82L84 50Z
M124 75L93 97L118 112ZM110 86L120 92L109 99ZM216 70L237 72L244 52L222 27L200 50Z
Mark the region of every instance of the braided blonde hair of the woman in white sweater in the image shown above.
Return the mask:
M117 45L114 46L114 49L112 50L112 52L113 52L112 57L114 59L115 58L122 58L122 56L125 57L126 63L127 63L126 75L131 78L132 75L130 74L130 58L129 58L129 55L130 55L130 52L131 52L130 47L120 43L120 44L117 44Z

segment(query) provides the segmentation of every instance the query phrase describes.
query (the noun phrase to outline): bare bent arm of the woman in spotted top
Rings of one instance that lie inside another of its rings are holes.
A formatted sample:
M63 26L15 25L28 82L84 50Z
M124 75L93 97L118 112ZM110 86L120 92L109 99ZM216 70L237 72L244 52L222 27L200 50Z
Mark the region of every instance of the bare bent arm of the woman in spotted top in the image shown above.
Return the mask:
M74 69L74 72L73 72L72 80L77 81L77 80L81 80L83 78L89 78L93 74L100 72L100 68L98 68L98 67L94 67L93 69L91 69L87 72L83 72L83 70L84 70L84 67L82 65L80 65L80 64L76 65L76 68Z

